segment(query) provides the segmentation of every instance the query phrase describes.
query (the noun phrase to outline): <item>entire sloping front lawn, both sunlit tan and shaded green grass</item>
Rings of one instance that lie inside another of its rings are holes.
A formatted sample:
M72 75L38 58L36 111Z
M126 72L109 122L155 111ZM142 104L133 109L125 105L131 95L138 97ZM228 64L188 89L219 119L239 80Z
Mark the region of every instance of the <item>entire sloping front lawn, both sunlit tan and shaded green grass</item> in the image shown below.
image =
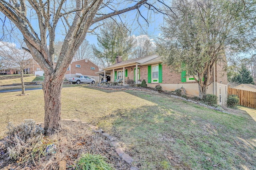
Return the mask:
M160 94L87 87L62 89L62 118L80 118L116 136L140 170L256 169L255 109L226 114ZM8 119L44 120L42 90L17 94L0 94L1 129Z

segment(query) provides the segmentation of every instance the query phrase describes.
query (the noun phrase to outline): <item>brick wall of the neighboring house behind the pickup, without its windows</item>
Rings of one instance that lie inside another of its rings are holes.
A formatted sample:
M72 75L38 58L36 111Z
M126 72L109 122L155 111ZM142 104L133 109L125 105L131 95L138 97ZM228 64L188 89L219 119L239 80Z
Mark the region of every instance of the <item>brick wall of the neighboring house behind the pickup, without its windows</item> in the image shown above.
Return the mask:
M76 64L80 65L81 67L78 68L76 67ZM94 67L95 70L91 70L91 67ZM90 76L99 76L98 74L95 74L95 72L99 71L99 67L96 66L94 63L86 59L83 60L78 60L78 61L73 61L70 64L70 70L66 71L65 74L76 74L76 73L81 73L83 75L90 75Z

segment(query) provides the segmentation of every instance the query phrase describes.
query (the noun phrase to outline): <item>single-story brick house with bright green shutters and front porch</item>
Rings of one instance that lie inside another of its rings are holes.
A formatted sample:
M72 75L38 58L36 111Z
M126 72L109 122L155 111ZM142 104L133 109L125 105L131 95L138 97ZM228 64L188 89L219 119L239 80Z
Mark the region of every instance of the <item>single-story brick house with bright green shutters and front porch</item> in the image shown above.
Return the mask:
M216 63L214 73L210 79L207 93L218 96L219 104L225 104L228 88L227 74L223 71L226 63ZM137 71L136 71L137 70ZM198 96L198 83L193 76L186 75L186 71L177 73L172 69L162 64L161 57L158 55L149 55L137 59L122 61L122 57L116 57L116 64L103 68L102 71L96 72L99 74L109 75L111 82L122 80L122 84L126 85L128 79L132 79L136 84L143 79L149 87L155 87L160 84L163 90L176 90L183 87L186 94Z

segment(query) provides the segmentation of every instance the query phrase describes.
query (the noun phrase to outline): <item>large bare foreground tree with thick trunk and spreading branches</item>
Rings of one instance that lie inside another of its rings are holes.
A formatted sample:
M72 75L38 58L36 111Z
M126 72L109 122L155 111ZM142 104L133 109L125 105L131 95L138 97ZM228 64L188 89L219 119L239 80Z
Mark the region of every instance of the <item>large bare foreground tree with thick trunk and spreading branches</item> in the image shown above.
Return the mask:
M141 6L152 12L160 12L163 0L0 0L0 11L11 20L23 35L27 51L44 70L44 129L46 134L61 129L61 89L64 74L76 51L92 25L122 13L137 10ZM156 2L160 2L159 5ZM144 8L144 9L145 9ZM138 20L137 17L137 20ZM147 19L147 17L143 17ZM36 20L36 21L35 21ZM33 25L38 23L38 25ZM65 37L54 66L56 27L64 23ZM94 27L94 28L95 28Z

